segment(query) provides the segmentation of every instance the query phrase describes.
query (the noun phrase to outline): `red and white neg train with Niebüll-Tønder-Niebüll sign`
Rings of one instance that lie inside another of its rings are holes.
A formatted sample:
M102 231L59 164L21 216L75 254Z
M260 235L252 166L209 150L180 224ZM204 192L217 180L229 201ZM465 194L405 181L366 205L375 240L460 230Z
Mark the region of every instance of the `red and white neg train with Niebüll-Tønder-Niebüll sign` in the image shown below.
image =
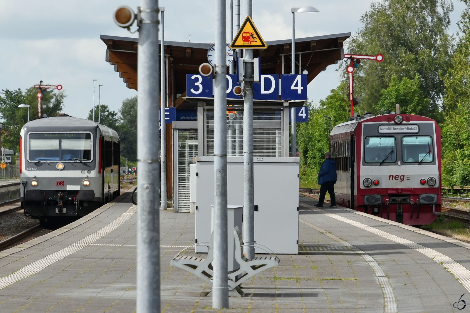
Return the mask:
M336 202L407 225L441 214L441 133L431 118L365 114L329 136Z

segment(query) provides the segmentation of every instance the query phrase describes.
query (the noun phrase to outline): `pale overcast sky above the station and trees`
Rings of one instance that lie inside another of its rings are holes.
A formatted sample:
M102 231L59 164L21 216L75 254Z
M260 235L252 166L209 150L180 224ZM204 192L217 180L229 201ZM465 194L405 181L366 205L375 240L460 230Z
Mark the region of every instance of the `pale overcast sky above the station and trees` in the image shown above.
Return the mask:
M240 2L243 20L244 0ZM354 33L372 2L253 0L253 22L266 41L290 39L290 8L311 5L320 12L296 14L296 38ZM100 84L101 103L118 110L125 98L137 94L126 88L113 66L105 62L106 46L100 40L100 35L137 37L114 24L112 13L119 4L136 8L139 1L0 1L0 90L24 90L41 79L47 84L61 84L67 95L64 112L86 118L93 107L93 79L98 79L96 104ZM159 5L165 7L166 40L188 41L191 34L191 42L213 42L213 0L160 0ZM457 30L455 23L464 5L454 1L454 8L450 32ZM335 70L330 65L309 84L310 99L318 103L337 87L339 75Z

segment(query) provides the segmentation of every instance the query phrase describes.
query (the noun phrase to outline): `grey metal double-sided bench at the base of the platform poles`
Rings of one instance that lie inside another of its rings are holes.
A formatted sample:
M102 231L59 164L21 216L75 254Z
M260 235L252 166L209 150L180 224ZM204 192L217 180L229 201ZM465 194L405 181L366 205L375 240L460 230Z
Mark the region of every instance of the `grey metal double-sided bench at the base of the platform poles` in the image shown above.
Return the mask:
M266 247L260 248L266 250L270 256L245 258L242 252L242 235L240 234L240 229L237 226L234 227L233 234L235 241L235 260L240 265L240 268L228 272L228 290L234 290L237 286L241 285L242 282L261 271L279 266L279 258L274 253L270 253ZM195 243L188 247L190 248L195 245L207 244L207 258L188 257L182 254L183 251L188 249L185 248L172 259L170 265L180 267L192 274L195 274L197 277L200 277L205 282L212 285L213 272L211 263L213 260L213 242L213 235L211 235L209 243ZM255 245L259 246L257 243L255 243Z

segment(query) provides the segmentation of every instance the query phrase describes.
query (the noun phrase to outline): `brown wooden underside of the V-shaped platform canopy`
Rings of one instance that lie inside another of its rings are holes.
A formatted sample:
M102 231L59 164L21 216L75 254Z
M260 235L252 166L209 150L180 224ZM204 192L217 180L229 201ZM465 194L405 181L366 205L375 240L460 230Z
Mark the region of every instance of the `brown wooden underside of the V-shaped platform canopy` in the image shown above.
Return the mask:
M350 32L296 39L296 69L307 70L310 83L328 65L344 59L343 42ZM123 78L126 87L137 90L138 39L101 35L106 44L106 62ZM267 41L266 49L254 49L253 56L261 57L261 73L290 74L291 39ZM207 50L211 44L196 42L165 41L165 56L168 63L169 106L179 107L184 103L177 98L186 92L186 74L198 73L201 63L207 61ZM227 70L228 72L228 70ZM187 103L187 102L186 102Z

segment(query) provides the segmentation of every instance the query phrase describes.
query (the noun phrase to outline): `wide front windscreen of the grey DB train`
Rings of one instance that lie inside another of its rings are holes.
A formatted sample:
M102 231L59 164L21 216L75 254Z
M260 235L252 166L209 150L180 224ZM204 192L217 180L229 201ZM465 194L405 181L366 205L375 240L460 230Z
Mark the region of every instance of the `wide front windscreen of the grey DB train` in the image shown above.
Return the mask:
M30 133L30 161L90 161L90 133Z

